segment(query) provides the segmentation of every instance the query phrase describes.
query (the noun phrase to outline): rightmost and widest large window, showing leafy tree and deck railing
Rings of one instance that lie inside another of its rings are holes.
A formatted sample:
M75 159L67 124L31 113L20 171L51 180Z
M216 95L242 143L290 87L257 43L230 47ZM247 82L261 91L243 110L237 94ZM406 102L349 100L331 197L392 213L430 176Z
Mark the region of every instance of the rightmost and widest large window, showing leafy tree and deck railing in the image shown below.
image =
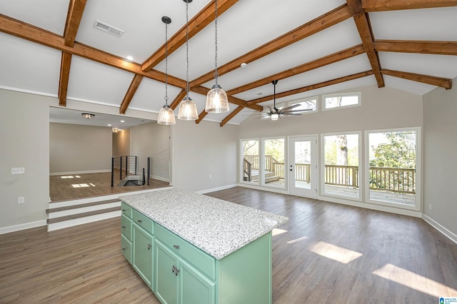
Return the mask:
M369 131L368 200L416 207L418 128Z

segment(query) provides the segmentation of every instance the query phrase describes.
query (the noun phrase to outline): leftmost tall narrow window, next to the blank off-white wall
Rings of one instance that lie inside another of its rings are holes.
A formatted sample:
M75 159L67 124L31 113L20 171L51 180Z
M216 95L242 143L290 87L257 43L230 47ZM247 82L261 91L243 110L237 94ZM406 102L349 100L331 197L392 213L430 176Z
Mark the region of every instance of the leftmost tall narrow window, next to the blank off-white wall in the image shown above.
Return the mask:
M260 169L258 140L247 139L241 141L243 176L241 181L258 184L258 173Z

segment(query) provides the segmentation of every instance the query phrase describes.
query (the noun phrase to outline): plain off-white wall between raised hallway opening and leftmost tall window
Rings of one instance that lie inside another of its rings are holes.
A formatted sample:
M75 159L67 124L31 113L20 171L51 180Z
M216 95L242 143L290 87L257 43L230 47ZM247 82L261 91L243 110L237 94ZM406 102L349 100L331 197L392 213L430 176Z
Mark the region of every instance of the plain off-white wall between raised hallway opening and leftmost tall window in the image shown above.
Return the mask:
M176 120L171 126L173 186L204 192L235 185L238 128L211 121Z

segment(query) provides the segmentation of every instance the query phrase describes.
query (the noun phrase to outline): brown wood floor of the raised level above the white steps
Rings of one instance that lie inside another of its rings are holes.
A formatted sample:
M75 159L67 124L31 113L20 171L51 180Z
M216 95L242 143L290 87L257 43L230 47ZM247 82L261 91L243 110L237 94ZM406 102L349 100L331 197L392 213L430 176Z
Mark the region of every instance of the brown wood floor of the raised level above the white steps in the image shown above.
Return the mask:
M52 203L164 187L169 187L168 181L153 178L149 178L149 186L111 187L111 172L49 176Z

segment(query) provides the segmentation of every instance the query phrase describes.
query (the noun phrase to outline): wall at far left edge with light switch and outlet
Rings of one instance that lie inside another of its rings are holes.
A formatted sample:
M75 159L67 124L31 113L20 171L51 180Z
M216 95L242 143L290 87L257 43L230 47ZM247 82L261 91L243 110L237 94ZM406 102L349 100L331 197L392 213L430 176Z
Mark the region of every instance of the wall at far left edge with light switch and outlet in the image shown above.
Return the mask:
M0 233L46 225L52 100L0 89ZM11 167L25 174L11 175Z

